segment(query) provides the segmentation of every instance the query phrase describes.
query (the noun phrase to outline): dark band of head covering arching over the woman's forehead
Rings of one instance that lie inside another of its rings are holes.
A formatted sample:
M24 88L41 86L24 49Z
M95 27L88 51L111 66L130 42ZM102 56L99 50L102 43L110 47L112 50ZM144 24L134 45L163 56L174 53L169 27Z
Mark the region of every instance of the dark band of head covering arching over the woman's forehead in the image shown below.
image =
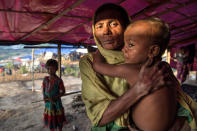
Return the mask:
M97 8L97 10L95 11L95 21L94 21L94 24L97 22L97 16L98 14L100 14L101 12L104 12L106 10L116 10L118 12L120 12L120 19L123 21L123 26L126 28L129 24L130 24L130 19L129 19L129 16L127 14L127 11L119 6L119 5L116 5L116 4L113 4L113 3L106 3L106 4L103 4L101 5L100 7ZM114 16L116 16L116 14L114 14ZM109 16L110 17L110 16ZM113 16L111 16L113 17Z

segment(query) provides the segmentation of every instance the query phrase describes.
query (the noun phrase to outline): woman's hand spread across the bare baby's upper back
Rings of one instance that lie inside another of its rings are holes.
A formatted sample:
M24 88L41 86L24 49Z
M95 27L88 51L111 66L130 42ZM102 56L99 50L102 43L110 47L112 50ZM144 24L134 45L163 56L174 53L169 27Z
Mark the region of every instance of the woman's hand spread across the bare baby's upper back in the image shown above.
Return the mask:
M177 87L180 85L168 63L157 61L152 64L152 62L153 60L149 59L141 67L139 79L135 84L135 87L139 89L139 94L147 95L164 86Z

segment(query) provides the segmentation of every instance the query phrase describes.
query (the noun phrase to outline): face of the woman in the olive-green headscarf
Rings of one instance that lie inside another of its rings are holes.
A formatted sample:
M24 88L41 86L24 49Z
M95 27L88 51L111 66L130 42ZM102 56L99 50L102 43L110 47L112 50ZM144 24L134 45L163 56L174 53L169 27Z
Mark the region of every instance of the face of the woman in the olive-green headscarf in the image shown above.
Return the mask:
M116 10L105 10L96 16L95 35L101 46L107 50L120 50L123 47L123 22Z

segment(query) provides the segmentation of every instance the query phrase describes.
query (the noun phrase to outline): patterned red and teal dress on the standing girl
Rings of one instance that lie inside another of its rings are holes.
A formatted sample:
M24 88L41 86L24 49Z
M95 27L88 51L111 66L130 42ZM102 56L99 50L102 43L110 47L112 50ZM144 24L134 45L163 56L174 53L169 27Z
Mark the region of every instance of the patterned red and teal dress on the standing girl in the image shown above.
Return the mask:
M58 77L52 80L49 80L49 77L45 77L42 87L44 96L48 98L53 98L65 92L63 81ZM57 128L62 128L65 122L66 119L61 99L58 98L54 102L46 101L44 109L45 127L48 127L50 131L55 131Z

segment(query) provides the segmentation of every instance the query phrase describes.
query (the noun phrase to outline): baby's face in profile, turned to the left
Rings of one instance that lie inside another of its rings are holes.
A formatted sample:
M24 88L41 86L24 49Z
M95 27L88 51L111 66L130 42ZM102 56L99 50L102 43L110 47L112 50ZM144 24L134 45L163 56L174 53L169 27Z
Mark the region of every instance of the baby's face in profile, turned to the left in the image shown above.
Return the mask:
M150 25L138 22L130 26L124 33L124 48L122 49L125 63L142 64L148 58L150 44L148 31Z

